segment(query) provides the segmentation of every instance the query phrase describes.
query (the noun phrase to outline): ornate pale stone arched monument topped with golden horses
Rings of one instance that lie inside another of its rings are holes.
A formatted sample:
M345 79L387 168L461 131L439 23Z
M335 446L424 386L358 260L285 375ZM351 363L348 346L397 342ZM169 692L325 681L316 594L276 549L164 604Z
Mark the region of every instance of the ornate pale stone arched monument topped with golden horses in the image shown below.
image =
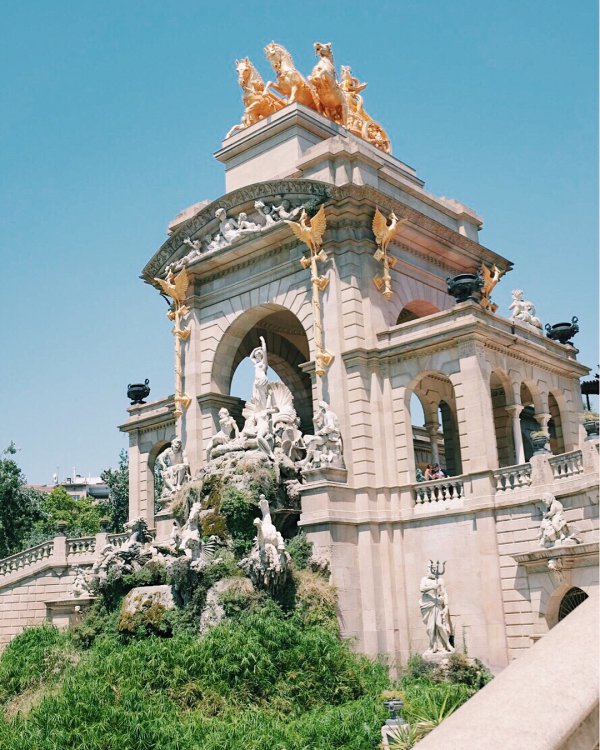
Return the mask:
M475 211L432 195L391 155L366 84L338 73L330 44L315 45L306 76L281 45L265 53L272 82L236 63L244 112L215 154L225 192L178 214L142 272L172 303L175 391L132 405L120 427L130 519L196 554L206 509L174 525L178 493L232 462L267 466L297 505L285 529L263 509L270 541L257 540L255 560L281 552L271 526L285 536L297 522L329 565L358 649L393 662L431 646L419 601L439 558L455 648L505 665L556 623L570 592L597 591L588 368L543 335L521 290L498 314L491 292L512 263L480 243ZM245 358L247 402L231 393ZM426 464L445 472L419 481ZM554 528L557 541L540 546L548 492L577 543ZM61 564L75 562L70 550Z

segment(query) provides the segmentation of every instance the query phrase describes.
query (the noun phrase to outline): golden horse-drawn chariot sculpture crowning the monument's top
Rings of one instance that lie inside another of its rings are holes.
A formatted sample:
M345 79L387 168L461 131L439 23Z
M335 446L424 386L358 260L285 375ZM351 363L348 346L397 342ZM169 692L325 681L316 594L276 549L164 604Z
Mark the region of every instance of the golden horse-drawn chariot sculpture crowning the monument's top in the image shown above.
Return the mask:
M242 121L231 128L227 138L287 104L298 102L343 125L351 133L385 153L391 153L387 133L365 111L361 92L367 84L354 78L347 65L342 66L341 80L338 80L331 43L316 42L314 49L318 62L306 78L296 69L287 49L276 42L265 47L265 55L275 73L275 81L264 83L247 57L236 61L245 109Z

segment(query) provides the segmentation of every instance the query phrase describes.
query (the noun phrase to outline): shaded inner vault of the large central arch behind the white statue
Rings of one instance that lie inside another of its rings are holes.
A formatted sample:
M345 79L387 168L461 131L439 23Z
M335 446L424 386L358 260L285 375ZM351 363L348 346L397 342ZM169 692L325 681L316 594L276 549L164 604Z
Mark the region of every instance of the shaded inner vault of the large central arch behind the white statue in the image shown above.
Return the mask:
M269 367L294 396L300 429L312 431L312 384L310 375L300 369L303 362L310 360L308 337L302 323L285 307L257 305L229 326L215 352L213 390L230 395L236 368L259 345L260 336L267 344Z

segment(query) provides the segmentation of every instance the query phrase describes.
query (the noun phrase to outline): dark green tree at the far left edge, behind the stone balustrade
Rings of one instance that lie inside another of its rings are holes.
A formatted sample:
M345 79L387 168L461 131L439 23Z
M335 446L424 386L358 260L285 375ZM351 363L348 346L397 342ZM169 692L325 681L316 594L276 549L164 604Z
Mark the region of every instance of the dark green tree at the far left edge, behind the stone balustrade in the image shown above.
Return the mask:
M43 494L26 486L25 476L13 456L11 444L0 458L0 558L23 548L32 524L39 518Z

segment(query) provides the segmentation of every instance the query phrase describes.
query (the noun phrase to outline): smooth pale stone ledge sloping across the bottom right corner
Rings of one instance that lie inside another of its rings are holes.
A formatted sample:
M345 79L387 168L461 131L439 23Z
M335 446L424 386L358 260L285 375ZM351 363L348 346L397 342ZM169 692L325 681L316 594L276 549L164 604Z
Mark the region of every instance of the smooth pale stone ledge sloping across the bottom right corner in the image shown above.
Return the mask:
M588 599L508 666L419 750L595 750L598 602Z

